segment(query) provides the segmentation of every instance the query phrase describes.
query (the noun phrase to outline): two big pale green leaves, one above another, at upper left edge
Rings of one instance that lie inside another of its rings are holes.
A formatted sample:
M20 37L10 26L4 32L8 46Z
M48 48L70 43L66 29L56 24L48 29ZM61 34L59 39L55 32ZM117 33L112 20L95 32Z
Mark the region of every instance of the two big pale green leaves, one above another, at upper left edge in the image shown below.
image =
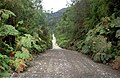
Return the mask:
M6 37L8 35L18 35L18 31L12 25L4 24L4 21L15 14L9 10L0 10L0 37Z

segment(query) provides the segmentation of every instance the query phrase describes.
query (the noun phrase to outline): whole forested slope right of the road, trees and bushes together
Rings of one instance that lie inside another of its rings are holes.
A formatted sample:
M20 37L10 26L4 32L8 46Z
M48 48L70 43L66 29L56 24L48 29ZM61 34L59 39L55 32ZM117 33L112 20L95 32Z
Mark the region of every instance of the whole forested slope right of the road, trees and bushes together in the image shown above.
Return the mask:
M120 1L81 0L67 8L55 31L58 44L108 63L120 55ZM117 65L118 67L116 67Z

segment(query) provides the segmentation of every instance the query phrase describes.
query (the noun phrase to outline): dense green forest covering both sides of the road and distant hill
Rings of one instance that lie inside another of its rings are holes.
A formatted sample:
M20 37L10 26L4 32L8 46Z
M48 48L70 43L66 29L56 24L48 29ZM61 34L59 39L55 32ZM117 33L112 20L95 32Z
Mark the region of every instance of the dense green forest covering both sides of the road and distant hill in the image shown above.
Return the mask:
M0 0L0 77L23 72L52 48L52 33L60 47L120 67L120 0L71 1L50 14L41 0Z

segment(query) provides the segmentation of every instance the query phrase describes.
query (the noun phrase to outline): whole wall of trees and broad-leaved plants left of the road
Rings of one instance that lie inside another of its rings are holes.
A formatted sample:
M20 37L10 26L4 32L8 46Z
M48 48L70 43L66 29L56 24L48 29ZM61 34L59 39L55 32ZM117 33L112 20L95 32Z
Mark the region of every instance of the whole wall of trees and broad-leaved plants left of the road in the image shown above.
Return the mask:
M41 0L0 0L0 77L23 72L32 54L51 48Z

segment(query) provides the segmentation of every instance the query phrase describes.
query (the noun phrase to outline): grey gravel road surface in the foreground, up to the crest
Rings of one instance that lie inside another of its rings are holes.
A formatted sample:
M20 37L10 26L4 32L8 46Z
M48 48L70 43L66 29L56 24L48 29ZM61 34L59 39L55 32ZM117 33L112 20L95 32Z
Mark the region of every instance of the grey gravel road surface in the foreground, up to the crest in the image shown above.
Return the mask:
M17 78L120 78L120 72L76 51L51 49L31 62Z

